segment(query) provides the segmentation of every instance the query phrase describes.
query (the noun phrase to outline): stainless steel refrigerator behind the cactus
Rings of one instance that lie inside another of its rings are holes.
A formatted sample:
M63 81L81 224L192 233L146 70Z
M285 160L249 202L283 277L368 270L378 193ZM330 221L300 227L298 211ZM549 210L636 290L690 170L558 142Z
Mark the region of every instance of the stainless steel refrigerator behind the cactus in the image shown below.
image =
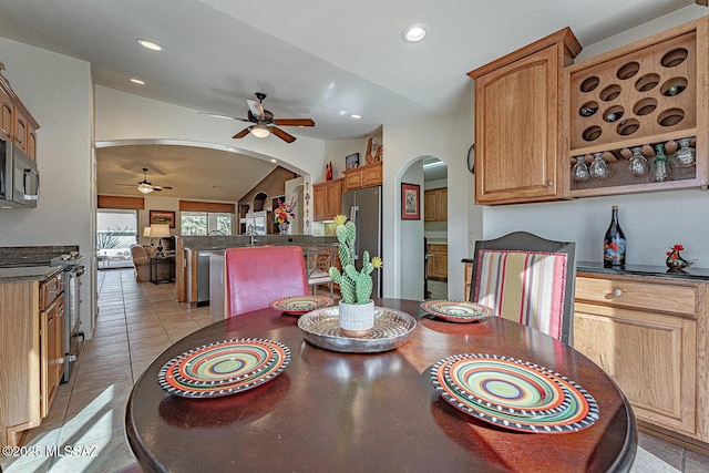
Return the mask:
M342 214L357 225L354 267L361 268L362 254L381 255L381 186L348 191L342 194ZM387 261L384 261L384 265ZM372 297L381 297L382 270L372 273Z

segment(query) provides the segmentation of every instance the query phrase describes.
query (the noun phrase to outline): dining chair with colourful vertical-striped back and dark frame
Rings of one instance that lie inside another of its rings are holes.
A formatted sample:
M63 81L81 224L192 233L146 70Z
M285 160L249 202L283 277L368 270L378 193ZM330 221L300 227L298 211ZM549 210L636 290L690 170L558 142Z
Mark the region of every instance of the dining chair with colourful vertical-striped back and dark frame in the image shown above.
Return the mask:
M470 300L573 345L576 244L514 232L475 243Z

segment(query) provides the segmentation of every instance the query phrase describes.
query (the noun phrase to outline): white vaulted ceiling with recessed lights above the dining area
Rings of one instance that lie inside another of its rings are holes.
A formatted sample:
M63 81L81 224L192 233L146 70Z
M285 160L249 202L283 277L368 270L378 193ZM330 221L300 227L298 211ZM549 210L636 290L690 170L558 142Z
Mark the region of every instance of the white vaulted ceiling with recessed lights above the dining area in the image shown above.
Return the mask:
M342 140L367 136L382 124L462 110L472 100L466 72L566 25L582 44L590 44L689 4L693 1L3 0L0 35L90 62L99 85L195 113L246 117L246 100L264 92L277 117L316 122L289 133ZM429 30L418 44L401 38L413 23ZM165 50L148 51L137 39ZM244 125L235 121L234 133Z

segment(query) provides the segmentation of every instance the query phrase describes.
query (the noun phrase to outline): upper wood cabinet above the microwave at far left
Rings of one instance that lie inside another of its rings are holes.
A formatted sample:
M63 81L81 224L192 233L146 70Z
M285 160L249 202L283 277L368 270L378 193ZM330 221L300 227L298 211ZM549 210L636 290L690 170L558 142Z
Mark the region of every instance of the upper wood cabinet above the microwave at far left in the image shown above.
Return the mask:
M16 95L10 83L0 74L0 137L17 143L37 160L37 130L40 125Z

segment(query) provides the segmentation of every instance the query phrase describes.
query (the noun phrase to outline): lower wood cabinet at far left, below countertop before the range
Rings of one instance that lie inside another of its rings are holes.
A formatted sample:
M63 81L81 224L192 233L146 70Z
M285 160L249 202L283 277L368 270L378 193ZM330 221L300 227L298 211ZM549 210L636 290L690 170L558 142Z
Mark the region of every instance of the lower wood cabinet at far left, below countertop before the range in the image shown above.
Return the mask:
M49 413L62 378L64 280L0 284L0 444L19 445Z

